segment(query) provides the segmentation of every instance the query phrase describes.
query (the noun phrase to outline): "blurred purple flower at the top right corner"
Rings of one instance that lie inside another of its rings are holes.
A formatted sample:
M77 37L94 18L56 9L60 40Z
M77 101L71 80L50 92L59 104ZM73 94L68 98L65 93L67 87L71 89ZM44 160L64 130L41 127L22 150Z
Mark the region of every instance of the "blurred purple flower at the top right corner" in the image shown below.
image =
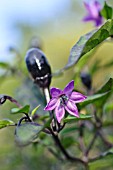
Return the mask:
M88 11L87 16L83 18L83 21L93 21L95 26L102 24L102 16L100 15L101 5L96 0L90 0L89 3L84 2L85 8Z

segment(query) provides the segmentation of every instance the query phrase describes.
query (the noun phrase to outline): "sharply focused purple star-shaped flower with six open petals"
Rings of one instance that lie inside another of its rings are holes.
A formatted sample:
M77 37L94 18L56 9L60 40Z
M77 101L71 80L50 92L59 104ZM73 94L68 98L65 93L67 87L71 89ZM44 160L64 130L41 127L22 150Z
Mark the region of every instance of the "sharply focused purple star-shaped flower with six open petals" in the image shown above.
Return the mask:
M50 94L52 99L49 101L44 110L54 110L57 121L60 123L62 118L65 116L65 110L76 117L79 117L76 103L80 103L86 99L81 93L72 92L74 89L74 80L69 82L64 90L59 88L51 88Z

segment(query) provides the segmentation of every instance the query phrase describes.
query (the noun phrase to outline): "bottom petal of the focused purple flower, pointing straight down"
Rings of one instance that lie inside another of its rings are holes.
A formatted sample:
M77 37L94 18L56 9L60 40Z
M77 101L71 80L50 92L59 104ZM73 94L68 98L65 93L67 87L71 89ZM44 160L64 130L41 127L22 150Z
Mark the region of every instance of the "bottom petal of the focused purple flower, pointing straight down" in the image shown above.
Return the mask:
M59 102L59 104L57 105L57 107L55 108L55 114L56 114L57 121L60 123L61 120L62 120L62 118L63 118L64 115L65 115L64 106L61 106L61 105L60 105L60 102Z

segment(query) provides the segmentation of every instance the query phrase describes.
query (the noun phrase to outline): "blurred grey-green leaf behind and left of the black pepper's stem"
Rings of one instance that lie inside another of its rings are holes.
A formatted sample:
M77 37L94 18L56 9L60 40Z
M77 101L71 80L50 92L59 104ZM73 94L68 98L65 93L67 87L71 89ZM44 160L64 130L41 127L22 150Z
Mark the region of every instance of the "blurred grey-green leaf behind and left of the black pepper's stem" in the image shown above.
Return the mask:
M30 111L32 111L37 105L40 105L38 109L38 115L46 115L47 112L44 111L46 101L40 88L33 84L32 80L27 78L21 87L16 91L16 97L23 105L30 103Z

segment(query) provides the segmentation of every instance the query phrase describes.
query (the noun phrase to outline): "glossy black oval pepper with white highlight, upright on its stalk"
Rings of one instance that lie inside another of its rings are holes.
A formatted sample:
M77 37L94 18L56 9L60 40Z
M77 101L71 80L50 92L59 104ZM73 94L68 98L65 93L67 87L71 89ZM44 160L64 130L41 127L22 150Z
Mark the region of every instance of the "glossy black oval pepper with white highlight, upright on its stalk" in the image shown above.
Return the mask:
M26 54L25 61L34 82L41 88L49 87L51 68L45 54L38 48L31 48Z

